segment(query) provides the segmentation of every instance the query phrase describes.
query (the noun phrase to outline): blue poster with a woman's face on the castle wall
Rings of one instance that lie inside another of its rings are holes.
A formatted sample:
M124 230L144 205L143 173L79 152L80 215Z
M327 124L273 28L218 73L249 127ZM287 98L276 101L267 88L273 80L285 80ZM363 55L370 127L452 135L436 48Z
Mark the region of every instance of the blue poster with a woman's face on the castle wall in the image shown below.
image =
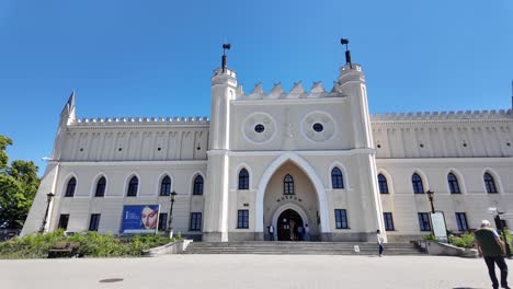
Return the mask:
M159 205L129 205L123 207L122 233L156 233Z

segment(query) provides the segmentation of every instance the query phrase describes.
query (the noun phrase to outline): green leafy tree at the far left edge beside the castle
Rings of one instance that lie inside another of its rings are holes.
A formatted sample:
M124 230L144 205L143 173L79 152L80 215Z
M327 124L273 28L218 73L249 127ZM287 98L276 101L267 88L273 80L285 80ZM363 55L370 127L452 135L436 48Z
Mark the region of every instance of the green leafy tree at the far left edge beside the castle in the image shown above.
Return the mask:
M13 161L5 152L12 140L0 135L0 228L21 229L39 186L37 165Z

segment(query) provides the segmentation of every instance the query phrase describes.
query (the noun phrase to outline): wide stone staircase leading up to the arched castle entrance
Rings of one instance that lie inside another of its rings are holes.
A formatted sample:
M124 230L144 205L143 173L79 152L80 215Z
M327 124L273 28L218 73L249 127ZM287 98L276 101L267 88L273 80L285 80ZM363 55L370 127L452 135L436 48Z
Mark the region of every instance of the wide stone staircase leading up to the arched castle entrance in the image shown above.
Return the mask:
M358 246L360 252L355 252ZM376 243L363 242L193 242L183 254L377 255ZM384 255L424 255L412 243L387 243Z

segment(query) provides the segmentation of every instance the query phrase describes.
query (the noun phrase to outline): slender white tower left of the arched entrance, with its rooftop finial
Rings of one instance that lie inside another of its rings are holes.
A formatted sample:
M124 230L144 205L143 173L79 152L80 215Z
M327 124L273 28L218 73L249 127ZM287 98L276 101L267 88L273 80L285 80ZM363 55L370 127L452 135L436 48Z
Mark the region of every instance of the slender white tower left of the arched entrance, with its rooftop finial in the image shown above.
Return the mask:
M204 241L228 241L228 167L230 150L231 101L236 99L236 72L226 66L223 45L221 68L212 78L210 139L205 194Z

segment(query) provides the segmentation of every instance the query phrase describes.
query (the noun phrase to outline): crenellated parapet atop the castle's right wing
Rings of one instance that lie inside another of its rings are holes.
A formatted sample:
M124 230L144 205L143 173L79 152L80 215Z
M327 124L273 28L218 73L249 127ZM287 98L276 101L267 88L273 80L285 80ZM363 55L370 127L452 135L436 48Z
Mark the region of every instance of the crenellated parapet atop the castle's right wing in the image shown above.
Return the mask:
M512 109L500 111L458 111L458 112L418 112L418 113L376 113L371 116L372 122L396 120L465 120L465 119L513 119Z

